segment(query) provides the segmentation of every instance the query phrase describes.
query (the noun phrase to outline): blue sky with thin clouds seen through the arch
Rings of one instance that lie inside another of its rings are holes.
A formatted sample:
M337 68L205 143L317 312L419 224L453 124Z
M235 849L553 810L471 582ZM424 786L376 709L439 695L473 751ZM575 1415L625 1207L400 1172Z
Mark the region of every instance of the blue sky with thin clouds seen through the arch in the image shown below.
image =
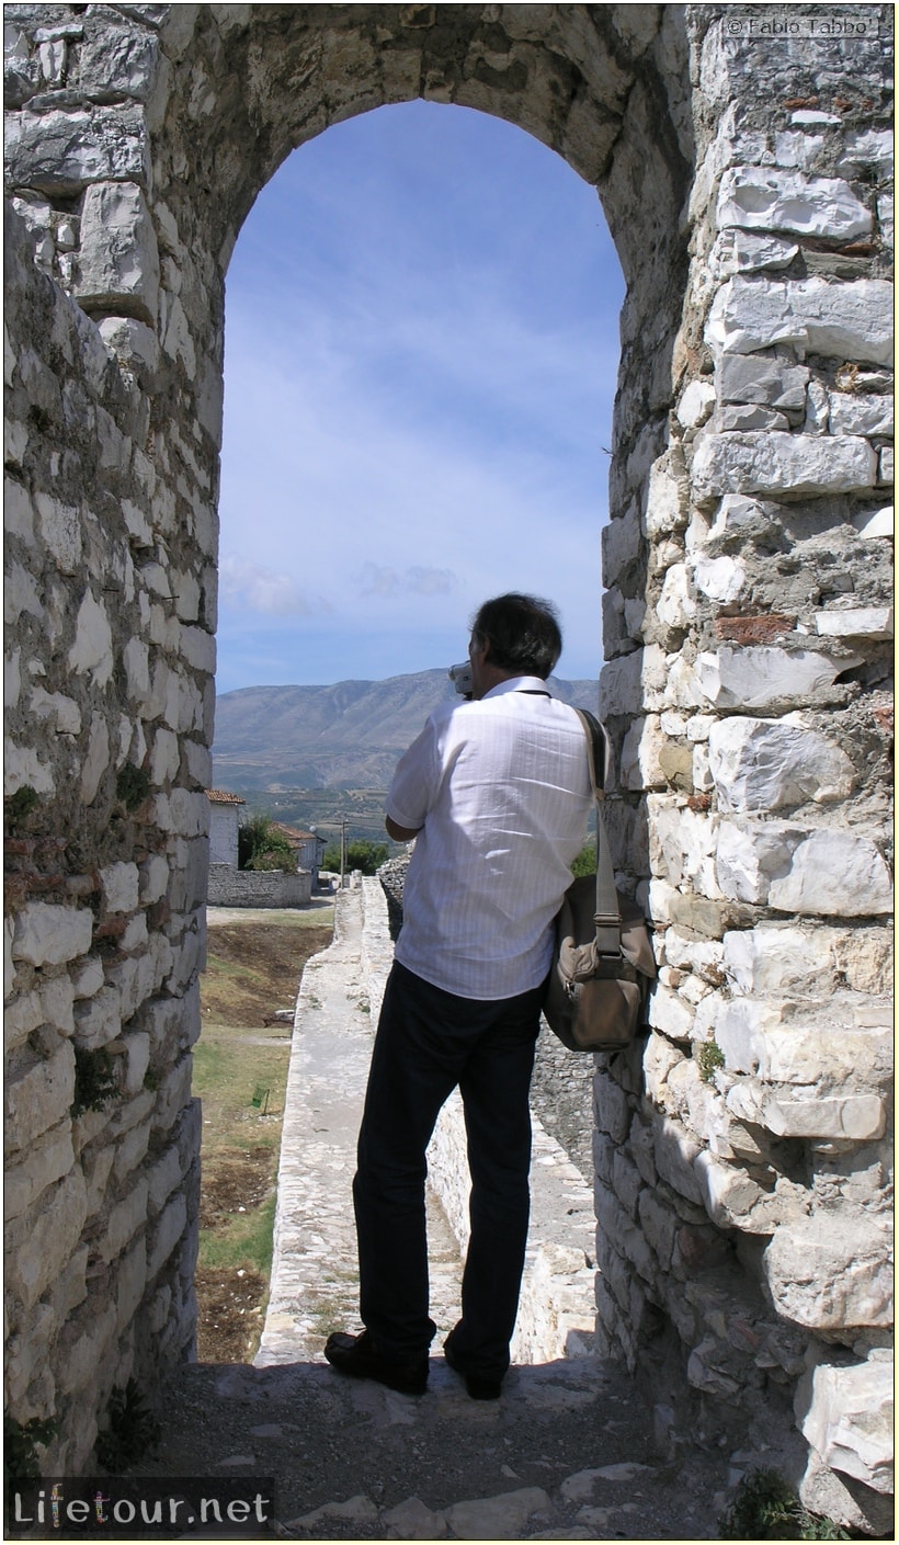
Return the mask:
M499 119L293 151L227 275L218 691L450 666L513 589L596 675L623 292L596 192Z

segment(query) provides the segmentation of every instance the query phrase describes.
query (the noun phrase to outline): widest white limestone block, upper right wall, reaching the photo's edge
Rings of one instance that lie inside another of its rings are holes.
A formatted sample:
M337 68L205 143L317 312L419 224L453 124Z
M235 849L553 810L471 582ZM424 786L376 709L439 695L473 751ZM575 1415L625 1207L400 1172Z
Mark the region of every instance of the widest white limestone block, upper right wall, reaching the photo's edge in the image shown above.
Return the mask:
M792 343L809 354L857 363L893 358L893 286L887 280L828 284L808 280L746 280L721 286L706 328L715 354L752 354Z

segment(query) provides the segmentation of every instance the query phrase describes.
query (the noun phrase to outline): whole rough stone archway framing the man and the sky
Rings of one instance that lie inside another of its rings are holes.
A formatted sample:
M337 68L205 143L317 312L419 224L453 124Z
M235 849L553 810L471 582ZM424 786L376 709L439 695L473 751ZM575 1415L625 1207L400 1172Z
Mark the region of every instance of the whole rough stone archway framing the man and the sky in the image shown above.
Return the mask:
M193 1333L227 261L295 145L423 96L595 184L629 286L601 708L663 980L596 1077L601 1341L715 1420L799 1387L809 1494L876 1514L887 39L797 9L8 8L9 1394L59 1468Z

